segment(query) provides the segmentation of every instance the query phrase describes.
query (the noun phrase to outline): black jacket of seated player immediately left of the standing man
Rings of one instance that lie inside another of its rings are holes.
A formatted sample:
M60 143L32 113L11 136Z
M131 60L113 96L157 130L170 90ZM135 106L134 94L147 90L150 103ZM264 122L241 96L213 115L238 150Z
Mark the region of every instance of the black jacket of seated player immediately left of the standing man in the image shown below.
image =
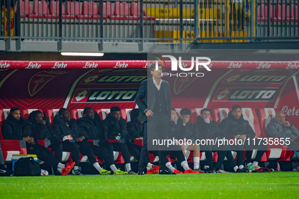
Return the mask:
M144 136L144 128L142 124L137 123L137 118L139 116L139 109L133 109L131 111L131 122L127 123L127 137L131 139L139 138Z

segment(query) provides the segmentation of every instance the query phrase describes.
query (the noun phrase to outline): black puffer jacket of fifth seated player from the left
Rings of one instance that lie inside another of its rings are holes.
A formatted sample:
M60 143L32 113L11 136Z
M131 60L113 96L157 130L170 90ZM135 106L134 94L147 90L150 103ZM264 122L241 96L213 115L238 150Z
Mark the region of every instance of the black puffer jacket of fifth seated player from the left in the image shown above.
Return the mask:
M111 116L111 113L109 113L106 119L103 120L103 126L106 140L115 139L115 137L118 136L118 133L120 133L122 141L125 142L125 137L128 134L128 132L126 127L126 121L122 117L120 117L120 120L117 121L115 118Z

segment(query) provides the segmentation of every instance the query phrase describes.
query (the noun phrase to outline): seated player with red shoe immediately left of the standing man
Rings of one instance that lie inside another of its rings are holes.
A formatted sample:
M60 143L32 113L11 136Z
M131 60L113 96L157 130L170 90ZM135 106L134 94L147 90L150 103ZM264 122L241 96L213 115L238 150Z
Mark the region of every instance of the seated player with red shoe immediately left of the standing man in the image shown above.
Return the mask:
M126 136L126 145L129 148L129 152L138 161L140 160L141 146L134 143L134 139L143 139L144 136L144 122L138 119L139 109L133 109L130 113L131 121L127 122L127 131L129 132ZM146 174L155 174L159 172L159 166L150 163L149 156L146 158L147 165Z

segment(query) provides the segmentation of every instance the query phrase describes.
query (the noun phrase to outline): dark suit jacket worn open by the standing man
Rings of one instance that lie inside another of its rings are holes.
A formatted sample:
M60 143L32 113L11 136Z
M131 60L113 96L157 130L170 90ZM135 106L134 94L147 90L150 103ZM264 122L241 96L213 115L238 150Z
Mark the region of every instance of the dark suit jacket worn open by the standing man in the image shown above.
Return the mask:
M167 103L167 113L170 119L171 109L172 109L172 98L170 97L170 86L167 81L161 79L161 88L164 89L165 100ZM147 117L144 113L146 109L153 110L155 105L155 84L153 82L153 77L143 80L140 84L138 93L136 95L135 101L140 108L139 120L141 122L147 121Z

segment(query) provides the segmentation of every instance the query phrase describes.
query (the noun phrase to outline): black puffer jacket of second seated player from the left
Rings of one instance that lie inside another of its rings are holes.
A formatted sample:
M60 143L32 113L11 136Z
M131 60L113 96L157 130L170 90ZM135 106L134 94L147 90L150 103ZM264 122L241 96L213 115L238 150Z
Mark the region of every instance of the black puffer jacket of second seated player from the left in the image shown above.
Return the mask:
M34 140L37 139L49 139L52 143L59 143L60 140L50 125L48 117L42 117L46 121L46 124L39 124L34 120L34 112L29 114L29 121L31 122L31 135Z

